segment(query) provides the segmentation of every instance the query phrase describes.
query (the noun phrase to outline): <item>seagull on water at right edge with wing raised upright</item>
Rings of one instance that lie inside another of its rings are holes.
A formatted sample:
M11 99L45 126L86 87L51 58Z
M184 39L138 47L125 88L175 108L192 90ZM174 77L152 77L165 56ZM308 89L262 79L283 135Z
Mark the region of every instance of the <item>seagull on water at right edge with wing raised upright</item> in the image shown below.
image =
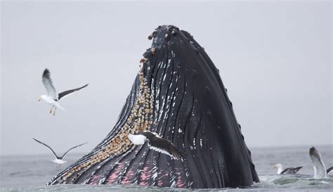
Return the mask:
M310 148L310 158L313 162L313 170L315 171L314 179L325 179L327 175L329 175L333 167L329 167L327 170L325 169L324 162L322 162L322 158L320 153L317 151L315 147Z

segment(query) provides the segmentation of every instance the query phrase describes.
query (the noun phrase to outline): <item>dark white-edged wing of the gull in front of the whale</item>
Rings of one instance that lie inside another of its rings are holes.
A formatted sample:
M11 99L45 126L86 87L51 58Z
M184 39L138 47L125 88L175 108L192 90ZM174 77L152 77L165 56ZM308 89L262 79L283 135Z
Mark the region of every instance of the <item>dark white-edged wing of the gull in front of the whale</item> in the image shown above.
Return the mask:
M148 142L148 146L150 149L169 155L176 160L183 160L186 158L185 153L179 151L174 144L159 136L152 137Z

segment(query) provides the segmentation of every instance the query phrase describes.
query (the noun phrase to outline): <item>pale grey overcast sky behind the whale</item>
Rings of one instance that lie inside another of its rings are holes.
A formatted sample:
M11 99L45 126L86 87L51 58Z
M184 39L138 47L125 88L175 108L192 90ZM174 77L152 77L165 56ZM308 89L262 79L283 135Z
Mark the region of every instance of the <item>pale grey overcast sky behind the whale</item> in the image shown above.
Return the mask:
M247 145L332 144L332 3L3 2L1 155L89 152L115 125L158 25L187 30L220 69ZM89 83L55 117L38 102Z

